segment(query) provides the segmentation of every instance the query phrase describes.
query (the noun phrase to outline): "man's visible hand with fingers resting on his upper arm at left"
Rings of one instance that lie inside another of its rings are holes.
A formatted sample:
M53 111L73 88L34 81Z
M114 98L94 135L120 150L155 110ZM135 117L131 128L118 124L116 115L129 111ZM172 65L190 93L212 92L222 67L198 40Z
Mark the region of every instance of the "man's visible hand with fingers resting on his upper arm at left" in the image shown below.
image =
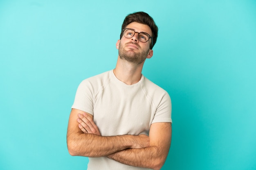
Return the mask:
M79 123L79 129L83 131L83 133L92 133L94 135L101 136L98 127L93 121L93 116L88 113L78 114L77 122Z

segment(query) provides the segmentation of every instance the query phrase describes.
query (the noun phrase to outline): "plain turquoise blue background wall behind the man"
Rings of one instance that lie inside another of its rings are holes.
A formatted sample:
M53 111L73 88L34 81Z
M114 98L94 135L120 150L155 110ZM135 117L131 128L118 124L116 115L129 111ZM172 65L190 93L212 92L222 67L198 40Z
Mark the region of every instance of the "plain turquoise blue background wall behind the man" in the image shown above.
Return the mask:
M172 99L163 170L256 170L255 0L0 0L0 169L84 170L67 122L79 83L115 68L121 24L159 26L143 74Z

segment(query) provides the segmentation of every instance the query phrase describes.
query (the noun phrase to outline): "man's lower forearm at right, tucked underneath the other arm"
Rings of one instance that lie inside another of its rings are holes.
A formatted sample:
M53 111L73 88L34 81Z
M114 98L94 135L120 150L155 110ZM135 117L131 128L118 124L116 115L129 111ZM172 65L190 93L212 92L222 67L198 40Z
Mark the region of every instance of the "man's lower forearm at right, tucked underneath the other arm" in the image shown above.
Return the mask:
M120 163L124 163L130 166L137 166L141 168L151 168L154 170L160 169L165 160L165 154L161 153L157 147L147 147L140 149L126 149L108 155L108 158L114 159Z

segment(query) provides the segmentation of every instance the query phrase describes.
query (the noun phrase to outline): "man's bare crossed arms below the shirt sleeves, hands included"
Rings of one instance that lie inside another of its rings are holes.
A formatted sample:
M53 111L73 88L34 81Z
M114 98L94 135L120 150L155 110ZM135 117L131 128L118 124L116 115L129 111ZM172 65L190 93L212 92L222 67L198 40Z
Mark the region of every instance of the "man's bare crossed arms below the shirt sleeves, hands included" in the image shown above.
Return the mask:
M92 115L72 109L67 129L70 155L107 156L121 163L160 169L171 145L171 123L151 124L146 135L101 136Z

